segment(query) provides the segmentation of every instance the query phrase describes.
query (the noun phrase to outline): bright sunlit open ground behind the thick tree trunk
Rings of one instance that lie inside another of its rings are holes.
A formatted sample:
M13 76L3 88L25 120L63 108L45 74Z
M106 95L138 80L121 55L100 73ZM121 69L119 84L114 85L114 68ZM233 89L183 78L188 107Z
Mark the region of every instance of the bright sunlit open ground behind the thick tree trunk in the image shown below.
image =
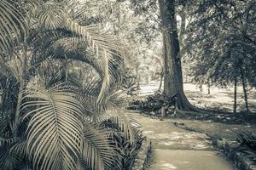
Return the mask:
M141 90L139 91L138 96L143 98L146 95L154 94L158 90L160 82L150 82L148 84L142 84ZM184 92L189 98L189 101L201 108L212 108L212 109L221 109L225 111L233 111L233 88L217 88L211 87L210 94L207 94L207 86L203 85L202 92L197 85L193 83L184 83ZM248 103L250 109L256 112L256 91L250 90L248 93ZM237 88L237 111L244 110L244 101L242 88L239 86Z

